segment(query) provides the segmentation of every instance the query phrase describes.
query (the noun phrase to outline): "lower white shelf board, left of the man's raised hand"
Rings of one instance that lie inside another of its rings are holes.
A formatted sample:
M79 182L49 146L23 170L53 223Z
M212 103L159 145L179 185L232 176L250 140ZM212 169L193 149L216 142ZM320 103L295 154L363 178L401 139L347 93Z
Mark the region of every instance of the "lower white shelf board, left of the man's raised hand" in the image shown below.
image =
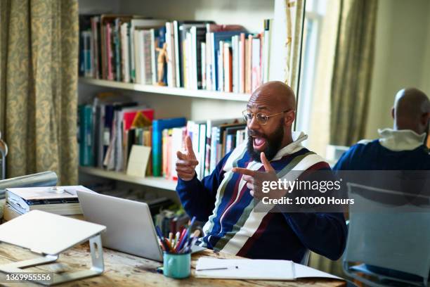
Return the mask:
M132 184L152 186L157 189L167 189L169 191L174 191L176 189L176 181L165 179L164 177L131 177L124 172L111 172L96 167L79 167L79 172L95 175L96 177L131 182Z

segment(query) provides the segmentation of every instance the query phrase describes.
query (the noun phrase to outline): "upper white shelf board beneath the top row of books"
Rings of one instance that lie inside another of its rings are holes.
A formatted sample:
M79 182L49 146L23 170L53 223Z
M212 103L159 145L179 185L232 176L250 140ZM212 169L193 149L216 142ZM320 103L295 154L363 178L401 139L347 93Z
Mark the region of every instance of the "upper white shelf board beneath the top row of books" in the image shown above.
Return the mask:
M146 93L164 94L171 96L187 96L190 98L211 98L215 100L242 101L249 100L249 94L235 94L223 91L192 90L184 88L159 87L145 84L132 84L106 79L92 79L88 77L79 77L79 83L92 84L99 87L108 87L114 89L126 89L131 91L144 91Z

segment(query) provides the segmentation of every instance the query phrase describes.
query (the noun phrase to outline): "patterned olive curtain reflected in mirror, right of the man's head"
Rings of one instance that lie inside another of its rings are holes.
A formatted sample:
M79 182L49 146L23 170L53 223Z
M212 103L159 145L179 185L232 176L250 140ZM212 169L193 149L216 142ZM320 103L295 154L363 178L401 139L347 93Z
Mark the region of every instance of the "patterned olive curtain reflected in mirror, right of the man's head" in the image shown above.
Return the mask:
M331 88L330 144L351 146L365 134L377 3L341 1Z

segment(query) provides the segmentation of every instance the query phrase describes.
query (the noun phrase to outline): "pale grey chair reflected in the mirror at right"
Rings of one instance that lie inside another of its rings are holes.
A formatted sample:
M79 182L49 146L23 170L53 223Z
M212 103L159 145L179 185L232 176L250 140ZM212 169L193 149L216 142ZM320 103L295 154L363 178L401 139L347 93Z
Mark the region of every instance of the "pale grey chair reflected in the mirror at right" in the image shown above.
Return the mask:
M382 282L390 280L410 285L428 286L430 270L429 209L417 208L408 204L387 205L380 201L370 200L370 196L364 197L363 194L372 195L376 192L388 195L393 191L375 189L361 184L348 183L347 185L349 198L354 199L354 204L350 205L349 210L348 241L343 260L344 272L367 286L386 286ZM370 211L365 212L363 208ZM411 212L412 208L419 212ZM353 265L353 262L363 264ZM375 272L375 269L371 267L392 272L382 274ZM410 281L405 277L393 276L393 273L399 274L400 272L421 278L422 281ZM376 277L377 281L372 281L360 274Z

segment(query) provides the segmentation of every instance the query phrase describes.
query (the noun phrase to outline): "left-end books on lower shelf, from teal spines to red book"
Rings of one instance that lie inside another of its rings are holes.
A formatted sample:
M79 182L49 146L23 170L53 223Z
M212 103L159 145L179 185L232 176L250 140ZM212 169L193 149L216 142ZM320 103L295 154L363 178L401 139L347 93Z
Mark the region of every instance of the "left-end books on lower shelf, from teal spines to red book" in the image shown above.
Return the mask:
M79 164L126 170L133 144L151 146L154 110L136 102L115 101L100 93L92 104L78 107Z

